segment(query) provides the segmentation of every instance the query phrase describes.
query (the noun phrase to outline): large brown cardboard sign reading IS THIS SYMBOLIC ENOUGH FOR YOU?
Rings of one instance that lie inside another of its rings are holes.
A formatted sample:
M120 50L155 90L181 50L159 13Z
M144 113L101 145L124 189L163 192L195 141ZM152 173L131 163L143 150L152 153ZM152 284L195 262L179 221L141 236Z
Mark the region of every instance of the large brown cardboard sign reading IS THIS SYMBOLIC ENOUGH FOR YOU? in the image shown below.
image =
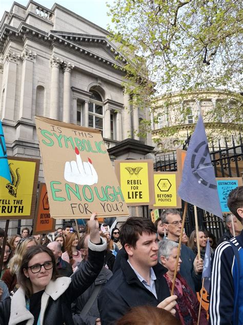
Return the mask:
M35 122L52 218L129 214L99 130L44 117Z

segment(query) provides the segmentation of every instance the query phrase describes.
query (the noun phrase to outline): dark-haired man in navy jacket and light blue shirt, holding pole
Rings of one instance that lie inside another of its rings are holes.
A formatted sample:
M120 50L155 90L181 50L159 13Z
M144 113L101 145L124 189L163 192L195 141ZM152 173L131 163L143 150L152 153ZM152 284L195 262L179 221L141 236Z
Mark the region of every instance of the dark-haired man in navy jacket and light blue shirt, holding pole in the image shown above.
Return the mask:
M115 323L134 306L149 304L175 313L177 297L170 297L163 277L167 269L157 264L156 230L151 220L137 217L128 218L120 228L120 241L128 259L120 259L119 270L98 297L102 324Z

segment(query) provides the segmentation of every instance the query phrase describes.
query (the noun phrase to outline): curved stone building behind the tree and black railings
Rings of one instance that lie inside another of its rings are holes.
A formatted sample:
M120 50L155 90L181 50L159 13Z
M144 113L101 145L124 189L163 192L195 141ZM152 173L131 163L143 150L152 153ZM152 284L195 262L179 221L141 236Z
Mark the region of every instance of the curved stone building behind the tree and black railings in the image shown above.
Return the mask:
M218 105L225 105L226 115L220 116ZM232 134L237 140L237 136L242 132L243 115L241 122L239 118L237 123L233 123L231 110L235 108L237 108L239 116L240 111L243 114L242 94L223 89L175 92L157 97L152 107L152 138L156 142L156 155L163 155L163 153L174 151L177 148L182 149L187 135L194 130L196 119L201 111L204 112L209 141L219 139L221 143L224 143L224 138L228 135L230 143ZM184 111L184 116L181 116L182 111ZM208 112L210 114L207 115ZM178 127L177 132L171 136L163 136L163 128L166 127L169 131L175 125ZM220 131L222 129L224 132Z

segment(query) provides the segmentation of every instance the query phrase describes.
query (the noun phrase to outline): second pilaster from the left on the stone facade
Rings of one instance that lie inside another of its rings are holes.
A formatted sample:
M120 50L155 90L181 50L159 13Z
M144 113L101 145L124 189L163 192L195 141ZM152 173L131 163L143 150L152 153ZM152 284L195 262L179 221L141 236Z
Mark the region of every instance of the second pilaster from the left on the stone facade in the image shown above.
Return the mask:
M19 105L19 119L32 119L32 96L33 96L33 65L36 53L24 50L21 55L23 60L21 96Z

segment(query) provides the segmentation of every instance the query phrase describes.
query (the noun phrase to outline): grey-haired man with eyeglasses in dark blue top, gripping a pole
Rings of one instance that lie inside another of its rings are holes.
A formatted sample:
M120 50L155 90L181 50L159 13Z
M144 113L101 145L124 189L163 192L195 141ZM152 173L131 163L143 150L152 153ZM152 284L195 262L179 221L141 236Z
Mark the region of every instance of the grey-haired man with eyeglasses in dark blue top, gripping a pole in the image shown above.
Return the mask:
M179 241L182 220L180 213L174 209L165 210L160 216L165 229L168 232L167 238L175 242ZM193 250L186 245L181 245L180 274L187 280L194 292L201 290L201 273L204 268L204 261L195 258Z

